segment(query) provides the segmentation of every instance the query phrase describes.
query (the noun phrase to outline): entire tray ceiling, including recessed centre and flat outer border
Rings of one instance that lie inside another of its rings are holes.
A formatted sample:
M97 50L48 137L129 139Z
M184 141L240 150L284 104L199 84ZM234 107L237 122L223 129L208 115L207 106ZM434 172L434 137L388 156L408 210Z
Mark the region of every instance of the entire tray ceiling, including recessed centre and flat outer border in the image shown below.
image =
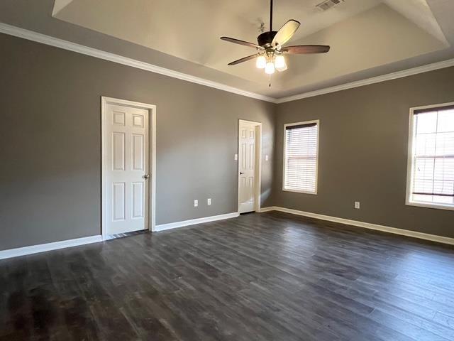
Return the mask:
M4 0L0 21L271 97L383 75L454 58L454 0L275 0L273 28L301 22L288 43L331 45L326 55L289 55L289 70L268 78L254 62L228 66L255 50L269 25L269 1Z

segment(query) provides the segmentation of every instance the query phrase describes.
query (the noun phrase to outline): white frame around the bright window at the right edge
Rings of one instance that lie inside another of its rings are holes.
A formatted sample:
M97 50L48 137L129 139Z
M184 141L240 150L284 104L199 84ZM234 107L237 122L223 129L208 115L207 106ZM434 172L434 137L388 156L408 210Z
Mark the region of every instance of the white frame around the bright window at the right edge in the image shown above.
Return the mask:
M454 102L442 103L442 104L431 104L423 107L413 107L410 108L410 120L409 120L409 151L408 151L408 161L406 166L406 195L405 195L405 205L416 206L416 207L426 207L426 208L436 208L438 210L451 210L454 211L454 207L450 205L436 204L436 203L426 203L426 202L414 202L411 201L411 188L413 188L413 177L414 174L414 141L416 139L416 134L414 134L414 112L422 109L441 109L443 107L452 107Z

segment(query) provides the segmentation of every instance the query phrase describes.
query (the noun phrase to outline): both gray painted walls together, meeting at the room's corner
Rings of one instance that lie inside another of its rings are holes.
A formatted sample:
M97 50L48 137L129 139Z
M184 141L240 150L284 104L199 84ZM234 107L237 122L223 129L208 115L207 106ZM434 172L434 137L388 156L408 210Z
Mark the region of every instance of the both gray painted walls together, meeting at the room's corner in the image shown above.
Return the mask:
M103 95L157 105L157 224L236 212L248 119L270 156L262 207L454 237L454 212L404 205L409 107L453 102L454 67L275 105L11 36L0 46L0 250L100 234ZM309 119L319 194L282 192L283 125Z

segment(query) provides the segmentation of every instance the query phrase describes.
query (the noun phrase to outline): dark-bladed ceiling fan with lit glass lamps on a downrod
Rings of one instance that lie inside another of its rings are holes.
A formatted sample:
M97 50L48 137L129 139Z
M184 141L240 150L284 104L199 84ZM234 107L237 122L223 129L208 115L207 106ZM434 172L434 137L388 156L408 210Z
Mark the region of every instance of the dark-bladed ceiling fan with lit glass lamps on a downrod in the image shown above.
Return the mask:
M287 70L284 54L305 55L308 53L327 53L329 51L330 47L327 45L295 45L284 47L284 43L287 43L292 38L299 25L299 21L290 19L279 31L272 31L272 0L270 0L270 31L263 32L257 37L258 44L235 38L221 37L222 40L249 46L257 50L257 53L235 60L232 63L228 63L228 65L237 65L256 58L256 66L259 69L265 69L265 73L268 75L272 75L275 73L275 70Z

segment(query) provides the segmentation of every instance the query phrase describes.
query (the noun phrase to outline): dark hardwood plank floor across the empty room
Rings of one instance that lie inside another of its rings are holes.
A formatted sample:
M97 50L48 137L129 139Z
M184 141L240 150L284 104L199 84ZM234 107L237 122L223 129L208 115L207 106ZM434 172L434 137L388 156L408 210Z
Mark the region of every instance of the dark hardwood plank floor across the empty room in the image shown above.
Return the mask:
M0 261L0 340L454 340L454 249L279 212Z

